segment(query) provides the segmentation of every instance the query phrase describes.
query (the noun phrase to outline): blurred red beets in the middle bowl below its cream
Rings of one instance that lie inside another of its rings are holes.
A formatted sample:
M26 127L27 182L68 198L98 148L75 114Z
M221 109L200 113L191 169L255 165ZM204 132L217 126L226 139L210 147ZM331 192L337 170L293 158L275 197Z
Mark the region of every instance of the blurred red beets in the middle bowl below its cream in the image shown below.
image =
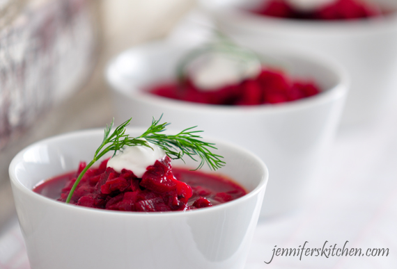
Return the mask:
M190 79L183 83L163 83L149 89L154 95L217 105L258 105L294 101L317 95L320 88L313 81L290 81L276 70L262 70L255 79L246 79L238 85L202 91Z

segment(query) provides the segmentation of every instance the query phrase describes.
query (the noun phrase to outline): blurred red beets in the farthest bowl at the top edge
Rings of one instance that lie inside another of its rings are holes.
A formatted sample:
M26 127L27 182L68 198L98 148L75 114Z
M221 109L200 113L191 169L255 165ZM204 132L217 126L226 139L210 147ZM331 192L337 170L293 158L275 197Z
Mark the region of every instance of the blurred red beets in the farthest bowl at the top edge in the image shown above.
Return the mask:
M265 1L254 13L270 17L320 20L359 19L382 15L380 8L361 0L336 0L309 12L295 9L285 0L270 0Z

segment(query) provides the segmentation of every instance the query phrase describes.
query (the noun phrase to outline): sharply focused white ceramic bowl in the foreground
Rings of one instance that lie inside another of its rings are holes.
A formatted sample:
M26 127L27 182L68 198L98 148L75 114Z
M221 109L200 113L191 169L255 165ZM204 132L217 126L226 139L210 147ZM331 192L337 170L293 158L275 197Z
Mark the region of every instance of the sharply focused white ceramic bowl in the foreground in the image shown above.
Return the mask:
M130 129L132 136L142 130ZM23 149L10 179L31 269L243 268L267 184L267 168L245 149L218 142L221 174L248 194L187 212L134 213L89 209L33 193L40 181L91 161L103 130L55 136ZM197 163L186 159L188 168ZM181 161L173 166L183 165Z

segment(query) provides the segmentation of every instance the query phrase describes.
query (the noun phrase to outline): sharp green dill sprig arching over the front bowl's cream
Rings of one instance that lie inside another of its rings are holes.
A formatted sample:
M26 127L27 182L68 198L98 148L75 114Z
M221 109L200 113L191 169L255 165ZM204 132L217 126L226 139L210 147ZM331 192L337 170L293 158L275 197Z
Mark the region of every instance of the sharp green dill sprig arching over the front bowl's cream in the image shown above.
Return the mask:
M79 177L77 177L75 181L75 184L72 186L68 198L66 199L66 203L70 202L70 199L72 199L72 195L79 185L81 178L96 161L104 156L104 154L107 154L111 151L114 151L114 156L116 152L123 149L124 147L150 147L148 142L152 142L153 144L164 149L166 155L174 160L180 158L183 161L183 157L187 155L189 158L192 158L192 160L197 161L194 156L198 156L201 161L196 170L202 168L205 163L207 163L212 170L217 170L226 164L221 160L221 158L224 158L223 156L213 154L211 152L211 149L217 149L215 144L204 142L201 140L201 136L197 135L197 133L201 133L203 131L192 131L192 129L196 127L190 127L180 131L180 133L177 133L176 135L166 135L162 132L166 130L166 126L168 126L169 123L159 124L161 118L162 117L160 117L159 120L155 120L153 117L150 127L137 138L132 138L125 133L125 127L130 124L132 119L123 122L123 124L120 124L120 126L118 126L113 133L110 133L114 124L114 120L112 120L111 124L109 126L107 125L104 129L102 144L96 150L93 160L86 165L84 170L81 171Z

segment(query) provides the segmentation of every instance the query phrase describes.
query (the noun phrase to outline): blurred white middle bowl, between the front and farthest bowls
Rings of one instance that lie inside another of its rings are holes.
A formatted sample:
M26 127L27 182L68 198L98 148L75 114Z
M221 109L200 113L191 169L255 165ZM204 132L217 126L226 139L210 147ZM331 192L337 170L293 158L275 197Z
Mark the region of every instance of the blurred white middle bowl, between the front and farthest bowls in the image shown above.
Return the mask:
M290 75L313 78L324 89L314 97L279 105L196 104L142 90L154 81L170 79L186 50L155 42L125 51L112 60L107 81L116 118L121 121L132 117L132 124L144 125L164 113L164 121L172 122L173 128L194 124L210 136L242 145L262 158L270 170L262 215L299 206L306 183L313 178L338 124L348 88L343 70L322 58L269 50L275 63L288 66Z

